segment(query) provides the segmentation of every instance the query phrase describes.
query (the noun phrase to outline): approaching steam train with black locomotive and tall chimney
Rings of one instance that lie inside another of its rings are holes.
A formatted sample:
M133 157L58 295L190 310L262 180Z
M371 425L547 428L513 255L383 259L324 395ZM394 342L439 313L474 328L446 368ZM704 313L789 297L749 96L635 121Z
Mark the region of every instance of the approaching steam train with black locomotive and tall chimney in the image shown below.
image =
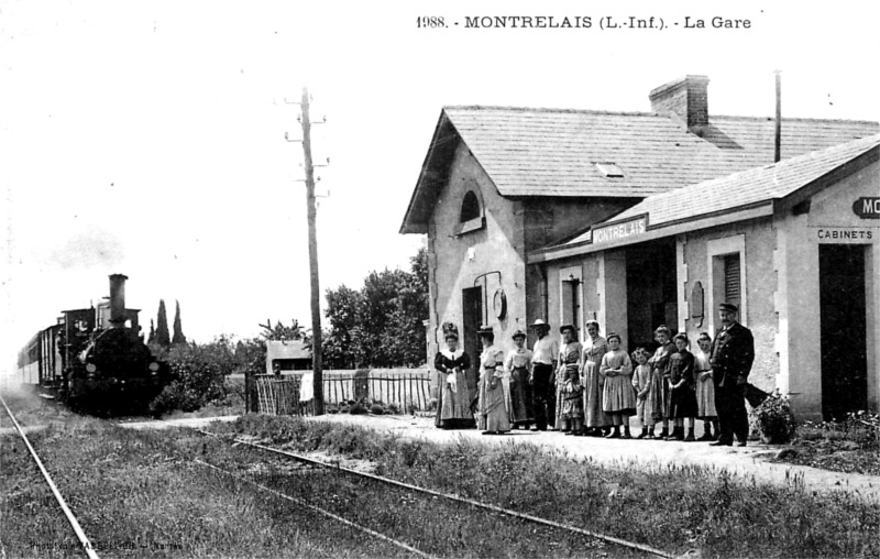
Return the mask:
M25 385L70 407L99 415L138 414L169 382L170 368L140 335L136 309L125 308L125 281L110 276L110 297L64 310L19 353Z

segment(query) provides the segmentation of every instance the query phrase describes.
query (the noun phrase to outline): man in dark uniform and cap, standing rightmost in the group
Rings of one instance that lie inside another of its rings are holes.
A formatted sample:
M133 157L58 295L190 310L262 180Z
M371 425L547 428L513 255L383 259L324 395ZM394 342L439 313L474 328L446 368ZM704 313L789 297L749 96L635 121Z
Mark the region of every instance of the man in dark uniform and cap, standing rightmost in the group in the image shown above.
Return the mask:
M745 391L755 361L755 339L751 330L737 322L738 311L736 305L729 303L718 306L722 327L712 342L710 363L721 430L718 440L711 443L714 447L733 446L734 435L738 446L745 447L749 435Z

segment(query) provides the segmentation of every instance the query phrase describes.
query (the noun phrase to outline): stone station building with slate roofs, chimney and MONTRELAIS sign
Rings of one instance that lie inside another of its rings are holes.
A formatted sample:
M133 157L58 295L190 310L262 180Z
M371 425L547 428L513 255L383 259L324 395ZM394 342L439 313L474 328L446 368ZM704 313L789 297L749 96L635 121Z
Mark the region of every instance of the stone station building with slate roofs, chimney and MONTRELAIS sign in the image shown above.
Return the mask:
M773 164L774 121L710 116L707 85L651 112L444 108L400 228L428 235L429 354L443 322L475 357L481 324L513 348L537 318L650 348L734 300L755 384L801 417L877 408L880 127L783 119Z

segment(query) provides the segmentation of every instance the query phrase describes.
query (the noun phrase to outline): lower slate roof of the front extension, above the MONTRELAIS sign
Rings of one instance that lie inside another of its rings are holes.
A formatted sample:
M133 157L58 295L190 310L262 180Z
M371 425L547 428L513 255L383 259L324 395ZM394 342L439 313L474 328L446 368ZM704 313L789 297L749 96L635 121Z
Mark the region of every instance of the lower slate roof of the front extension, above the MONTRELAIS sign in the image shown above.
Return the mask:
M667 223L782 199L878 146L880 134L875 134L776 164L658 194L593 228L647 215L649 229L657 229ZM584 243L590 239L591 232L586 231L560 246Z

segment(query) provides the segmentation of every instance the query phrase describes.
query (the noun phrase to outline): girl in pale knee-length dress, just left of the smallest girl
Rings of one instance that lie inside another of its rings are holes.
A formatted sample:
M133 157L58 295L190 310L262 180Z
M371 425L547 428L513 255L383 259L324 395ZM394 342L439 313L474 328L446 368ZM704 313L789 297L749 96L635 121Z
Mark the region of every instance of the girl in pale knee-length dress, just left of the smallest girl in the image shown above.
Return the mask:
M632 362L629 361L626 351L620 349L619 335L612 332L606 340L608 352L602 355L598 373L605 379L605 386L602 390L602 409L610 415L614 428L605 437L619 439L620 426L623 426L623 438L631 439L629 416L636 413L636 395L632 393Z

